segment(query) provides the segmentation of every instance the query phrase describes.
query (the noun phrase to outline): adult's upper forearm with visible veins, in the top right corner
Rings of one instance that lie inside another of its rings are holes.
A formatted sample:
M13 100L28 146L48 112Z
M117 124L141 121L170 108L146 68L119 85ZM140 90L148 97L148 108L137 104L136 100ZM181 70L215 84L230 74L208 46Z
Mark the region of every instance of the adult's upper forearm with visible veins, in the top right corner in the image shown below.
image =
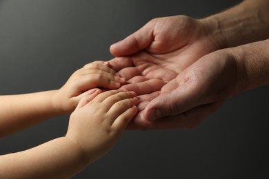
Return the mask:
M268 9L268 0L246 0L201 21L222 48L230 48L269 38Z

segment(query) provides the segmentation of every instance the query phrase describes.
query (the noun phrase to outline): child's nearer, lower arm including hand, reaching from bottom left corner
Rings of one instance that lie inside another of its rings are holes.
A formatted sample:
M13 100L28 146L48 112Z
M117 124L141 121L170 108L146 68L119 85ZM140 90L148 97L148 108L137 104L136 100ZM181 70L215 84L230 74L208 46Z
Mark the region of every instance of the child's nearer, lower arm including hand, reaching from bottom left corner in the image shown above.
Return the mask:
M71 178L112 148L137 103L134 92L90 90L70 116L66 136L0 156L0 178Z

